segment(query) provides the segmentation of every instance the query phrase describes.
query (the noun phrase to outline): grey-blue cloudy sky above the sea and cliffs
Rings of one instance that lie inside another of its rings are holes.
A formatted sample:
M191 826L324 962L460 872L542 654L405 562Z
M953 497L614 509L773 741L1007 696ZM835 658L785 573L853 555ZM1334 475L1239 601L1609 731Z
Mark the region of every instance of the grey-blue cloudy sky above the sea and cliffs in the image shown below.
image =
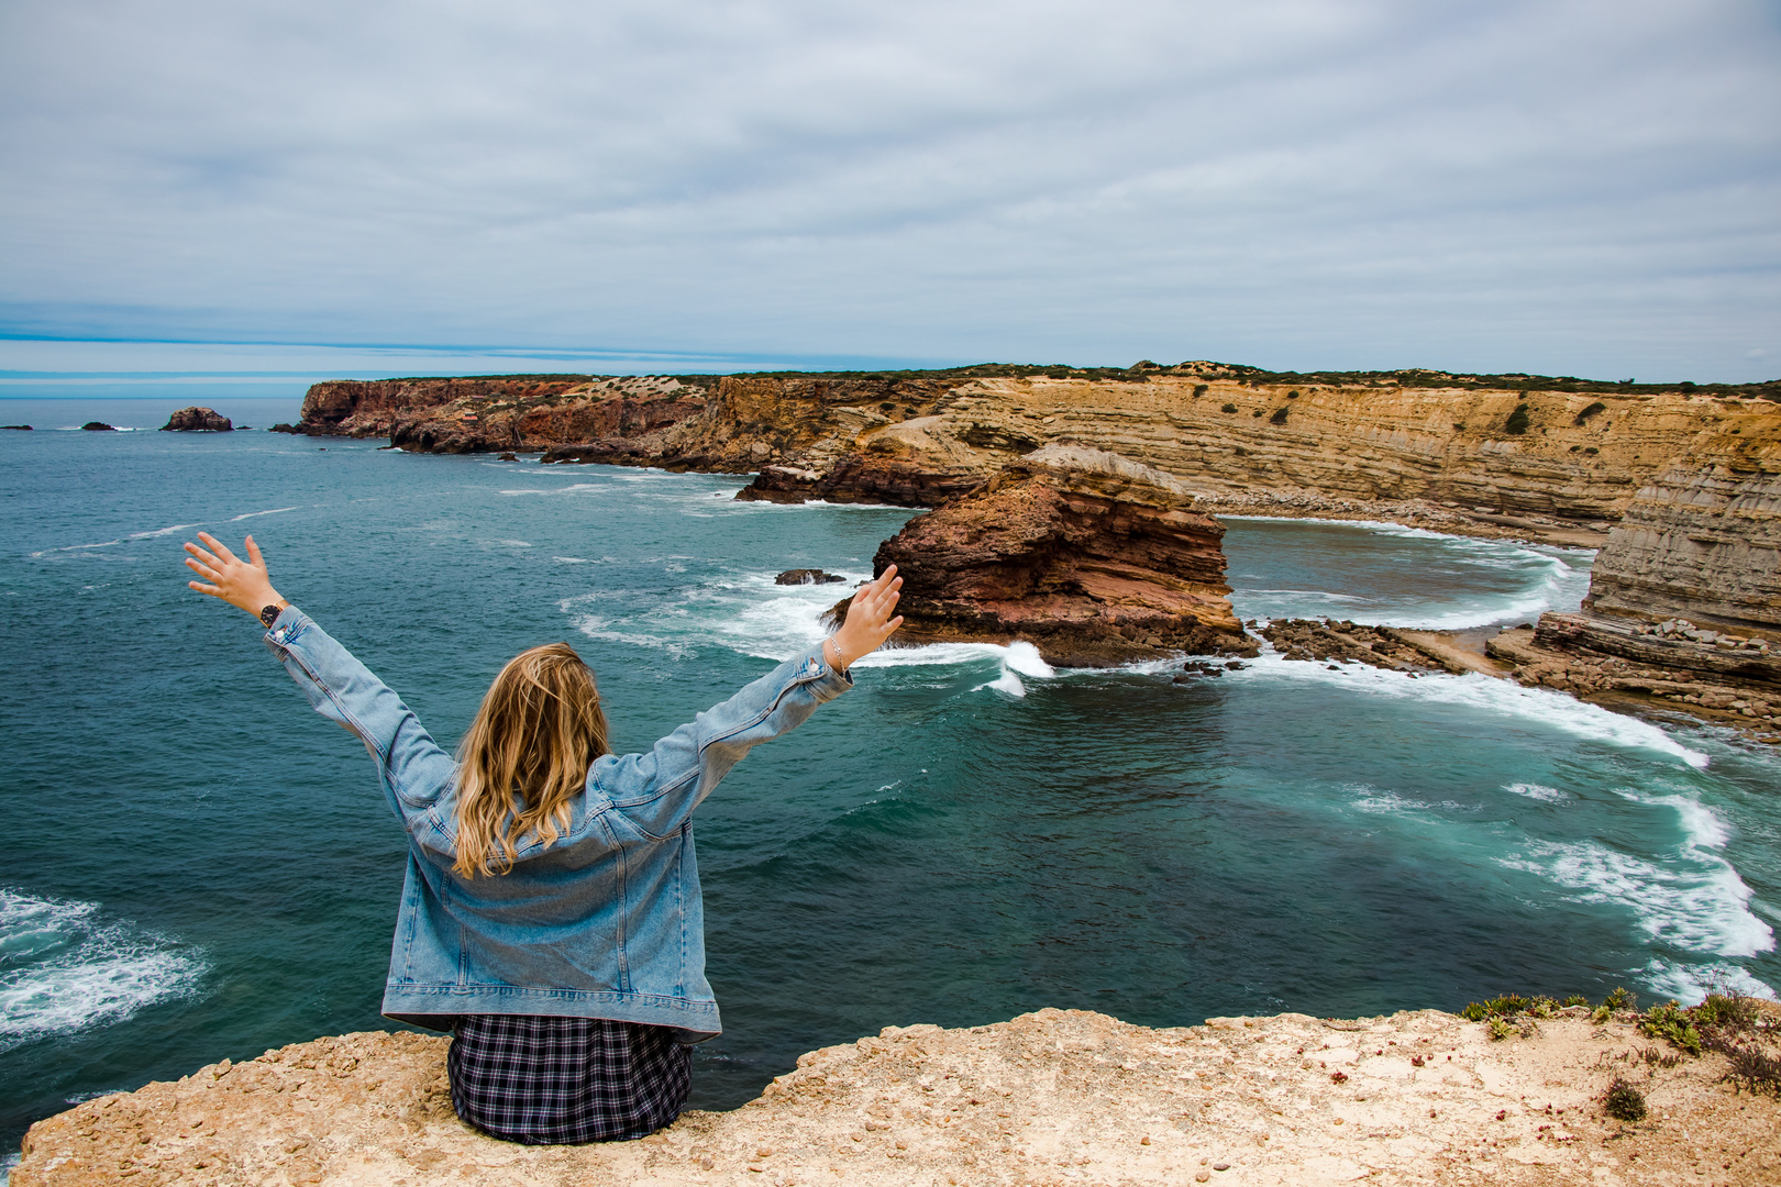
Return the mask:
M1781 0L7 0L0 338L1769 379Z

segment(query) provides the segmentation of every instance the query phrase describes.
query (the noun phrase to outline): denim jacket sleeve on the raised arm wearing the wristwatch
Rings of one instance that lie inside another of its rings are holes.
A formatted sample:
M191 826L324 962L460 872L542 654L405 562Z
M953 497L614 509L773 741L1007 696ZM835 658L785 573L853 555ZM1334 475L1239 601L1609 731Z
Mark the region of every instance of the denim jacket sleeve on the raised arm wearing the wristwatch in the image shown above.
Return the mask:
M365 744L390 808L415 840L449 849L451 836L435 808L451 787L456 763L420 728L403 698L296 607L285 607L265 632L265 646L317 714Z

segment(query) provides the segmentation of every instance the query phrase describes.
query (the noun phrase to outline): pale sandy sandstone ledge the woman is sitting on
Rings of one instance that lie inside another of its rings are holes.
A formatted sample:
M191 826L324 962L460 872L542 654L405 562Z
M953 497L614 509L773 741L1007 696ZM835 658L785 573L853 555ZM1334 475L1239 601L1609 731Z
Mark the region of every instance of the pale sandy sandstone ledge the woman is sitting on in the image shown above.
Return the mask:
M1647 1062L1651 1039L1580 1009L1537 1025L1496 1043L1439 1011L889 1027L803 1055L734 1112L579 1148L461 1125L445 1039L347 1034L39 1121L12 1183L1781 1182L1781 1102L1735 1094L1717 1055ZM1603 1116L1614 1075L1646 1091L1646 1121Z

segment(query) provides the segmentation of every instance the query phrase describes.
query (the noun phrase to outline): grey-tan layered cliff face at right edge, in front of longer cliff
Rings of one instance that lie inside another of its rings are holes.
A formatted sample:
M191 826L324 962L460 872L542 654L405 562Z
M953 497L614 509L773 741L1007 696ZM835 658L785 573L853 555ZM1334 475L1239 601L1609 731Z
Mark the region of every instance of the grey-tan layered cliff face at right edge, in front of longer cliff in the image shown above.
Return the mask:
M1781 639L1781 416L1747 416L1639 489L1596 557L1596 614Z

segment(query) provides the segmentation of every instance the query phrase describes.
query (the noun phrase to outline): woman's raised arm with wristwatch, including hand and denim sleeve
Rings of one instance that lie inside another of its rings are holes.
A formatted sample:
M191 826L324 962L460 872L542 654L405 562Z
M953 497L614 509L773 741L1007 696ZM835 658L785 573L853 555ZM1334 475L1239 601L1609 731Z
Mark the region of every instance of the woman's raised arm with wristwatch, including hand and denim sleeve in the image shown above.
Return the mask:
M322 717L351 730L378 763L390 806L415 836L431 847L449 845L435 801L452 779L454 763L386 683L351 651L272 589L260 546L248 537L242 561L207 532L185 545L185 564L205 582L187 582L253 614L265 625L265 646L280 658L303 696Z

